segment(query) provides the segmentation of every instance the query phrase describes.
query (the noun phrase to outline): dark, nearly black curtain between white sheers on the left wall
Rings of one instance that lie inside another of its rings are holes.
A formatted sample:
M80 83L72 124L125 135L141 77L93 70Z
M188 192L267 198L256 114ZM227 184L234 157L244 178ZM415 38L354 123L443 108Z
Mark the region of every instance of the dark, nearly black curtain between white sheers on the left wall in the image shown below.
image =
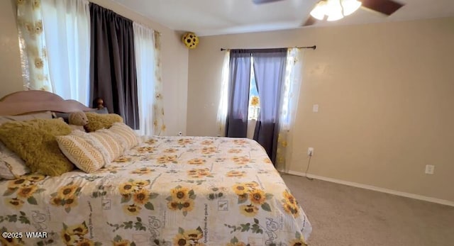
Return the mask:
M133 21L90 3L90 100L104 99L110 113L138 129Z

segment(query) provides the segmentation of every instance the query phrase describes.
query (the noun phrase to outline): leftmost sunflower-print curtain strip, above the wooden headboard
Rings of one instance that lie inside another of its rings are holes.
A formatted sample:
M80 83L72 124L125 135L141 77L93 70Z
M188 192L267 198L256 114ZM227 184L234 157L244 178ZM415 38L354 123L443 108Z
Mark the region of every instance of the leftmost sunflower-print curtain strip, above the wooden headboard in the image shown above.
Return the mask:
M40 0L17 0L21 67L26 90L52 91L42 14Z

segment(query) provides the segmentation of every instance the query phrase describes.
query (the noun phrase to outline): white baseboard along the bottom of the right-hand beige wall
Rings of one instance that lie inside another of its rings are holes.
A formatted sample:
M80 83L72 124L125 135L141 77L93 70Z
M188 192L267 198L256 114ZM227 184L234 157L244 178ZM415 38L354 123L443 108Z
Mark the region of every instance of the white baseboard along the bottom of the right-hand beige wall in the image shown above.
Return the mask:
M279 172L283 172L283 173L287 173L287 174L293 174L293 175L302 176L302 177L306 176L306 174L304 172L284 171L284 170L280 170ZM404 196L404 197L408 197L408 198L411 198L411 199L418 199L418 200L422 200L422 201L430 201L432 203L439 203L439 204L443 204L443 205L453 206L454 207L454 201L436 199L436 198L433 198L433 197L430 197L430 196L421 196L421 195L406 193L406 192L402 192L402 191L394 191L392 189L384 189L384 188L380 188L380 187L377 187L377 186L371 186L371 185L367 185L367 184L359 184L359 183L355 183L355 182L344 181L344 180L341 180L341 179L332 179L332 178L328 178L328 177L317 176L317 175L314 175L314 174L307 174L307 177L312 178L312 179L320 179L320 180L323 180L323 181L328 181L328 182L337 183L337 184L345 184L345 185L348 185L348 186L354 186L354 187L358 187L358 188L362 188L362 189L369 189L369 190L372 190L372 191L380 191L380 192L383 192L383 193L397 195L397 196Z

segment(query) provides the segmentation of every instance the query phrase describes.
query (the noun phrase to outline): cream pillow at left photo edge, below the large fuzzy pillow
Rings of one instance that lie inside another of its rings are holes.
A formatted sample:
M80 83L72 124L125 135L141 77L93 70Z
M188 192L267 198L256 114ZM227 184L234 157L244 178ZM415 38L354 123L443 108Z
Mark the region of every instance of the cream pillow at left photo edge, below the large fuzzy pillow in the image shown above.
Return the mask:
M0 178L17 179L29 172L26 162L0 142Z

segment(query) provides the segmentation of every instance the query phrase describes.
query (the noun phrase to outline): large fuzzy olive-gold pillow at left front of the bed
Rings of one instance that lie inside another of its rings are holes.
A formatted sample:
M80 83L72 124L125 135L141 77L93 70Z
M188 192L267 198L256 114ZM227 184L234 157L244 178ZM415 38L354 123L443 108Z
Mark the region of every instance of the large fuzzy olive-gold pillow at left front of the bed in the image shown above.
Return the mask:
M31 172L59 176L74 169L58 148L57 135L68 135L71 128L60 119L12 121L0 126L0 140L26 161Z

